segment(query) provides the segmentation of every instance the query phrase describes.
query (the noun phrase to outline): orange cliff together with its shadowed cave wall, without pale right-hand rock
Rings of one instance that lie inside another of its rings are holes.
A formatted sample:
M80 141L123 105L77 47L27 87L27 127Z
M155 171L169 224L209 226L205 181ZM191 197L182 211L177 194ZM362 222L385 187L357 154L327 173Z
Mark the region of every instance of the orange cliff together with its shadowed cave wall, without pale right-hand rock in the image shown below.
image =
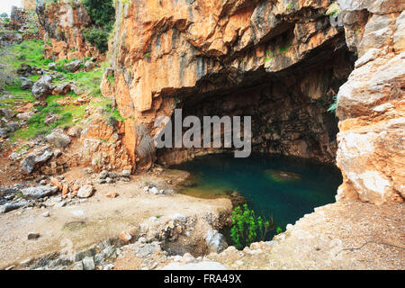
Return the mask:
M116 95L127 119L124 144L134 163L150 166L154 152L139 151L145 131L152 139L153 121L176 107L197 116L253 115L254 150L334 162L338 121L327 110L354 60L343 28L331 25L332 6L117 2L115 87L104 77L102 90ZM170 164L208 152L162 150L157 157Z

